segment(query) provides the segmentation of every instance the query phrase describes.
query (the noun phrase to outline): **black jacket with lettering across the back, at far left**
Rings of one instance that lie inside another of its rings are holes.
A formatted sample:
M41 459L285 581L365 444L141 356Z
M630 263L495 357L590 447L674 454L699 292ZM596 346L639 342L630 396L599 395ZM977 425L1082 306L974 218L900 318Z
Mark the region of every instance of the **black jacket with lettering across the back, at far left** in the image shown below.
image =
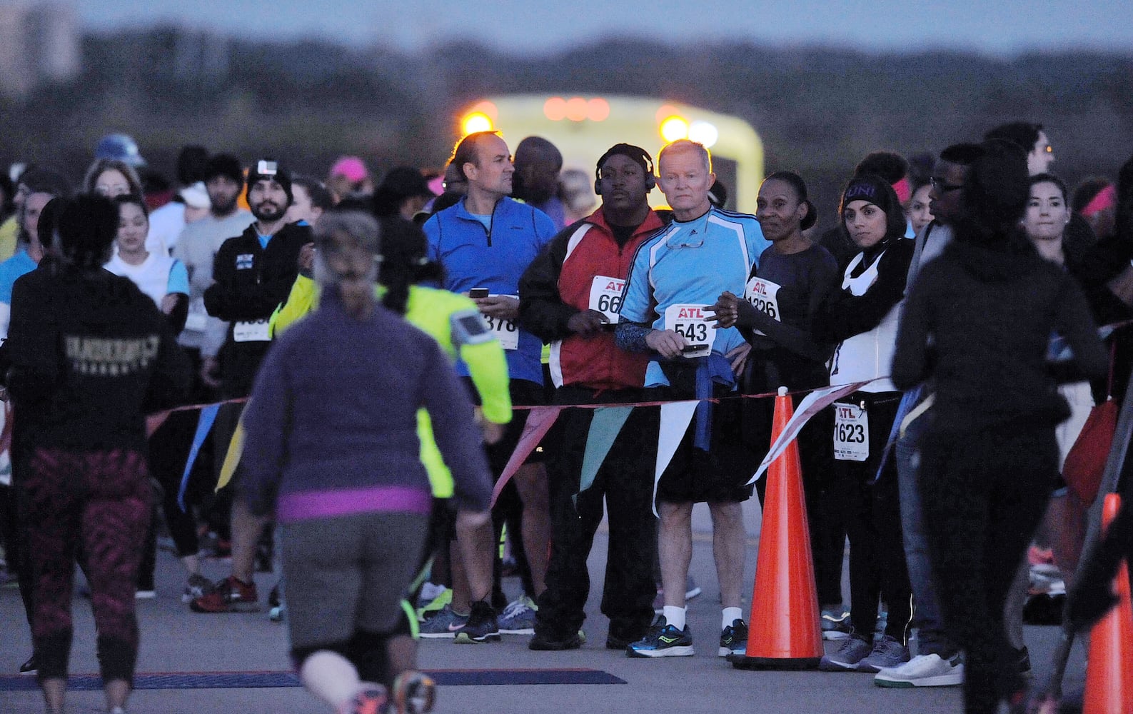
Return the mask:
M11 307L3 349L19 447L144 449L145 411L188 390L169 321L127 278L35 270Z

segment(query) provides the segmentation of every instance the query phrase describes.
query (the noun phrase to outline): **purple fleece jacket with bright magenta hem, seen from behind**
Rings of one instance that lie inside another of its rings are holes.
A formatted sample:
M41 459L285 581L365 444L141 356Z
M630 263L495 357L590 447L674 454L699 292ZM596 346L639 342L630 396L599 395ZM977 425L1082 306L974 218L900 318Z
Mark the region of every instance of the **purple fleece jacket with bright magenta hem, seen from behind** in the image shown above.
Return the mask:
M244 411L240 490L281 522L366 512L428 513L417 410L424 407L457 505L486 510L491 471L472 405L436 342L376 307L348 315L335 290L267 352Z

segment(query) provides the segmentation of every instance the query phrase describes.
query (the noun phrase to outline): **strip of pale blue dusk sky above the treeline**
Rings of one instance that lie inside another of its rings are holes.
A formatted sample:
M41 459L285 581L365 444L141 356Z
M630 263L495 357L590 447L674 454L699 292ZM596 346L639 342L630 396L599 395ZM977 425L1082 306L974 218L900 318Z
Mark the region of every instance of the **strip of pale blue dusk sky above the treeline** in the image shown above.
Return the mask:
M672 44L749 40L866 52L944 48L995 56L1133 48L1130 0L62 1L73 5L80 23L91 29L172 22L233 36L314 36L406 52L465 39L514 54L538 56L615 35L654 37Z

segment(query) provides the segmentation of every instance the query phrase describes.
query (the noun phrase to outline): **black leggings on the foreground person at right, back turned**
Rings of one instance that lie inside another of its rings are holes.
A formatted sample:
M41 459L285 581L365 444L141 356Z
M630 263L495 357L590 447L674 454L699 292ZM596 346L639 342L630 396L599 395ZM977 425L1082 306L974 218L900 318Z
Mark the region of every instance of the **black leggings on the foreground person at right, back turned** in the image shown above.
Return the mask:
M995 712L1023 680L1004 603L1058 475L1053 426L929 432L919 485L948 636L966 652L964 711Z

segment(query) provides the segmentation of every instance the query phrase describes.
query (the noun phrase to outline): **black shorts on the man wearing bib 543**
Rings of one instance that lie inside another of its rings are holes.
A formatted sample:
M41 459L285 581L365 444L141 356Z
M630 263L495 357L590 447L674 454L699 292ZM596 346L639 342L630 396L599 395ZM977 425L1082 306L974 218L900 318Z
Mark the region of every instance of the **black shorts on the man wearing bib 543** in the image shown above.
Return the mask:
M646 390L648 399L672 401L688 399L668 386ZM736 392L717 388L716 397ZM743 407L740 399L724 399L712 406L712 431L708 451L696 448L697 417L684 432L673 459L657 483L661 503L739 503L751 498L753 486L746 485L759 462L743 440Z

